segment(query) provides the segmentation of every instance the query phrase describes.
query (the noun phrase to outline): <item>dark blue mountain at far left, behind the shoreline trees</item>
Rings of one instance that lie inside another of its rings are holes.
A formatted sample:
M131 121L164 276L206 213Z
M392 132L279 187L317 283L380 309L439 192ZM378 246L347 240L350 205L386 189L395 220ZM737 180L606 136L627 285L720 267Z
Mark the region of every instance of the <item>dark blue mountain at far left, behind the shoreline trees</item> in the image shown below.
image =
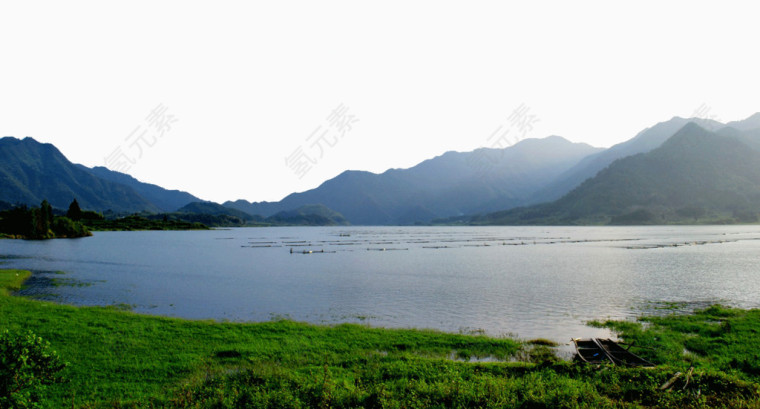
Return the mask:
M75 165L55 146L33 138L0 139L0 200L36 206L44 199L60 209L77 199L82 208L114 212L176 210L171 207L199 200L105 168Z

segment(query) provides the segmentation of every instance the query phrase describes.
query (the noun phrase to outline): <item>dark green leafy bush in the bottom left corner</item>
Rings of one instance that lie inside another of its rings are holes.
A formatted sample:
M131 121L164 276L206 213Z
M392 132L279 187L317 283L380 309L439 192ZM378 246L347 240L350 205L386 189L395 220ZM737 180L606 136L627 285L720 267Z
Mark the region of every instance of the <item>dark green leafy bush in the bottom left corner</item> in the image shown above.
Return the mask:
M31 331L0 333L0 408L37 408L47 385L63 382L66 364Z

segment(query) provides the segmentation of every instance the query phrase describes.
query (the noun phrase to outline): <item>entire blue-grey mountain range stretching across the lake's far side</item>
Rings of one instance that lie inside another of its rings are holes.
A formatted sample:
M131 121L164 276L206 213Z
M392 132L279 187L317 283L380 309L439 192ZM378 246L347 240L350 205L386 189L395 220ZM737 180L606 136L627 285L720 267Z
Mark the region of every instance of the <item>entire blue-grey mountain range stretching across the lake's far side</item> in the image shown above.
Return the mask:
M32 138L6 137L0 139L0 207L47 199L65 209L76 198L97 211L285 224L746 221L760 204L753 173L760 169L758 152L760 113L727 124L674 117L609 149L559 136L525 139L503 149L447 152L380 174L345 171L279 202L219 205L103 167L72 164L53 145Z

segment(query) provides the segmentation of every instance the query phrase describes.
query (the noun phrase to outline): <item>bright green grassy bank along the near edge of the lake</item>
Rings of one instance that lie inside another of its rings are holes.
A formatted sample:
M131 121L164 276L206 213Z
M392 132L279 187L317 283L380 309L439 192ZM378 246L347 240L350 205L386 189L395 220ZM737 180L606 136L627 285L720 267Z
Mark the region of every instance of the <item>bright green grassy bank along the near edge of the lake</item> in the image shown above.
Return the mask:
M13 296L30 275L0 270L0 328L31 331L30 339L49 342L66 362L63 383L24 395L30 407L760 405L760 310L716 305L590 323L617 332L658 365L639 369L562 361L542 340L286 320L191 321Z

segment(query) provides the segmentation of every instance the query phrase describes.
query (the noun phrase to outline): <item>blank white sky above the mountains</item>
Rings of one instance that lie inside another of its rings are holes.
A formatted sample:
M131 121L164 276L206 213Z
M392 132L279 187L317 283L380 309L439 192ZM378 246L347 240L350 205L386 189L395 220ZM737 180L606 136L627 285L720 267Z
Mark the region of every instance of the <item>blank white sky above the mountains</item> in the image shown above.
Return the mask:
M218 202L488 146L523 104L538 119L527 137L607 147L700 107L721 121L760 111L759 7L3 2L0 133L87 166L121 149L136 178ZM355 121L320 152L340 104ZM158 106L176 121L155 138ZM285 162L299 148L316 158L302 178Z

